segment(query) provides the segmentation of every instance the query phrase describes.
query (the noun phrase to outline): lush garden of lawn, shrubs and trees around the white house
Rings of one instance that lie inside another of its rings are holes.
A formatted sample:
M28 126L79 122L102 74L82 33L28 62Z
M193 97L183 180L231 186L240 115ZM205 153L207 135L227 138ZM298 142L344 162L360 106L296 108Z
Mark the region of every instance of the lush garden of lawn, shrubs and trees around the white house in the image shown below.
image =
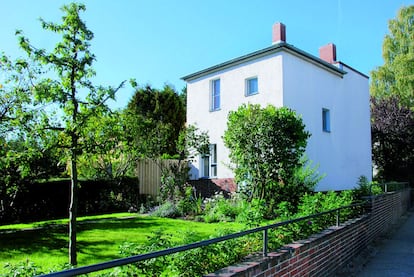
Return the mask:
M246 104L228 114L222 137L237 192L201 197L187 183L188 166L209 155L210 138L185 122L186 88L155 89L130 79L128 106L112 110L107 100L115 100L127 82L92 84L93 33L81 19L85 10L71 3L62 7L62 22L40 19L53 38L60 36L53 49L35 47L16 31L24 57L0 55L1 276L39 275L185 245L382 193L363 176L352 191L314 192L323 174L306 158L312 134L300 115ZM412 101L383 97L381 89L390 86L381 85L379 73L371 107L377 178L412 181ZM176 160L162 168L156 199L139 191L136 163L145 159ZM344 209L340 217L355 212ZM269 250L334 223L326 215L273 229ZM261 247L262 238L251 234L93 275L200 276Z

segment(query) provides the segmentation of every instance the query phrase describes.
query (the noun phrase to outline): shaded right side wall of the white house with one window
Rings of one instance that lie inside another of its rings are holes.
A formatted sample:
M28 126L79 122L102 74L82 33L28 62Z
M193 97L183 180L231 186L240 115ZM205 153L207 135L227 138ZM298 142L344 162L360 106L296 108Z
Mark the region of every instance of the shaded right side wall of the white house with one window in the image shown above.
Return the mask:
M317 190L343 190L364 175L371 180L368 79L350 68L343 78L292 55L283 60L284 106L302 116L312 134L307 157L326 174ZM322 130L322 109L330 111L330 132Z

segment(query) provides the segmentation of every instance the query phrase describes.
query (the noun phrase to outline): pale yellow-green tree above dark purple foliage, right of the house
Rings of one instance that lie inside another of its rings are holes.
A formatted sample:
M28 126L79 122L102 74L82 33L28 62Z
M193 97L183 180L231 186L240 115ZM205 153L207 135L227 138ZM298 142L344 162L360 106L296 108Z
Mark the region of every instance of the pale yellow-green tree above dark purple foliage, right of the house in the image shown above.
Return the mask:
M397 96L400 104L414 110L414 6L401 8L388 28L382 46L384 65L371 72L371 95Z

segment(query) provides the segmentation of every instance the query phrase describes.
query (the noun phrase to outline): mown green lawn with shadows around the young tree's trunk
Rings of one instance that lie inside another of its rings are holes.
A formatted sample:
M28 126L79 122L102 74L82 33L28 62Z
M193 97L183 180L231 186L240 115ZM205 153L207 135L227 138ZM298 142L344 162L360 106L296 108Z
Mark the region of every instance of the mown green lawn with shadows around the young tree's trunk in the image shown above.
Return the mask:
M111 214L79 218L78 264L94 264L120 258L124 242L144 242L157 230L179 237L193 232L199 240L222 229L243 228L237 223L201 223L134 214ZM31 229L30 229L31 228ZM6 263L29 259L44 271L68 261L67 220L0 226L0 273ZM4 271L3 271L4 272Z

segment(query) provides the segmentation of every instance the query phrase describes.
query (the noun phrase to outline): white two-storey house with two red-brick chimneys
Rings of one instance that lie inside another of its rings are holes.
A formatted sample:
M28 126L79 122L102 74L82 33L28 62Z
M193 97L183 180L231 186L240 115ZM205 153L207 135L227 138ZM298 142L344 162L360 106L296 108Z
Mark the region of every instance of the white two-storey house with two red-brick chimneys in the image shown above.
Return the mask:
M315 57L286 43L285 26L273 25L272 46L183 77L187 123L208 131L210 156L192 164L192 179L216 183L234 177L222 136L227 116L243 103L286 106L311 133L307 157L326 174L317 190L353 188L372 175L368 76L336 61L328 44Z

